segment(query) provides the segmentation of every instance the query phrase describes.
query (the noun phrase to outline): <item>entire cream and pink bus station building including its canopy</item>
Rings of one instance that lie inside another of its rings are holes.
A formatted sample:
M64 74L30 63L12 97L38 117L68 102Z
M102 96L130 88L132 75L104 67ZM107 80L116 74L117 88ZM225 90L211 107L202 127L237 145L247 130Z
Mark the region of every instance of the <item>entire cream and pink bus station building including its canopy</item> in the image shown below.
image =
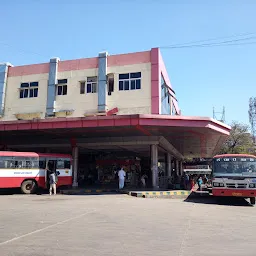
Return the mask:
M164 180L182 175L184 158L212 157L229 131L182 115L158 48L0 64L0 150L72 154L73 186L110 185L125 166L128 185L147 173L166 187L160 170Z

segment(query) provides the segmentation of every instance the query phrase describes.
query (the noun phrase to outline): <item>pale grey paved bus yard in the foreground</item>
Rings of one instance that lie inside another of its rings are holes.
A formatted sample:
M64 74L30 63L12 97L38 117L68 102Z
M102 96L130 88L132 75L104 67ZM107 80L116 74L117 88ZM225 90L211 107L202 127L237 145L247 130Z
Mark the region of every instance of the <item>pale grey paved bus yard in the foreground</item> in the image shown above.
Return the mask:
M1 195L1 256L255 256L244 200Z

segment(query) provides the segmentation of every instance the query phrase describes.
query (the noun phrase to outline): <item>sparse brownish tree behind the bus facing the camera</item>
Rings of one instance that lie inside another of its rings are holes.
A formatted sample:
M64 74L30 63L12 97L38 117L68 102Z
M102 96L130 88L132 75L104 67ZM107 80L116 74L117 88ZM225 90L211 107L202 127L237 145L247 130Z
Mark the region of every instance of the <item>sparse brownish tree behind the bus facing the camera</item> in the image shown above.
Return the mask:
M255 152L249 126L233 121L230 136L222 145L221 154L248 154Z

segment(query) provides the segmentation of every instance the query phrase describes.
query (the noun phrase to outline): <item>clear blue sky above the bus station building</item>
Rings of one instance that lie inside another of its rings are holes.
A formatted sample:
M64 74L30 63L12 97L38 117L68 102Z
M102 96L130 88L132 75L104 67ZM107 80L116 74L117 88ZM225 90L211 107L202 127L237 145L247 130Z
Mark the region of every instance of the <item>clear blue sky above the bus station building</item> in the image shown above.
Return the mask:
M256 2L236 0L23 0L1 2L0 61L13 65L149 50L256 32ZM254 40L256 42L256 39ZM183 115L248 123L256 44L163 49Z

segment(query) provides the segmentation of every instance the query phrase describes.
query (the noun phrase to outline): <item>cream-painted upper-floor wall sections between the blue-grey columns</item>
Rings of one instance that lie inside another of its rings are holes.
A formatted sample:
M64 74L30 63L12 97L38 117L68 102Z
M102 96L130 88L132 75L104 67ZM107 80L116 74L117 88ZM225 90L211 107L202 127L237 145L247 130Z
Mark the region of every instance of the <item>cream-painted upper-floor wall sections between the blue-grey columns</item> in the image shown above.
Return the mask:
M118 75L122 73L141 72L141 89L119 91ZM151 113L151 63L108 67L107 73L114 73L114 92L106 95L107 109L115 107L121 114ZM67 79L67 95L56 95L55 110L74 110L69 117L83 117L85 114L98 112L98 93L80 94L80 81L87 77L97 76L98 69L73 70L58 73L58 79ZM39 82L38 97L20 99L20 84L23 82ZM48 74L12 76L7 79L5 98L5 114L3 121L17 120L16 114L23 114L24 119L33 119L33 113L41 113L45 117L47 103ZM86 90L86 88L85 88ZM56 113L57 117L66 116Z

